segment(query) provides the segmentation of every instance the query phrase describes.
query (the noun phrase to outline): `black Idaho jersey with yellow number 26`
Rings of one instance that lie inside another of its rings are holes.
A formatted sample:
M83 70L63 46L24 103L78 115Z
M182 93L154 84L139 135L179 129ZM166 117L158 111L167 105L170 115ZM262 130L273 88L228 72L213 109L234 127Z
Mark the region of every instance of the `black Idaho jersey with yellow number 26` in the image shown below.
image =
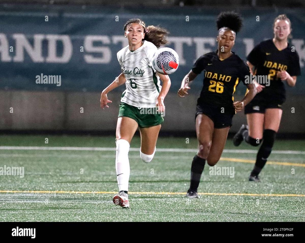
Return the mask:
M250 75L248 65L235 53L221 61L215 51L200 56L192 67L195 74L203 70L203 88L198 103L230 107L232 111L236 86L239 82L245 84L246 76Z

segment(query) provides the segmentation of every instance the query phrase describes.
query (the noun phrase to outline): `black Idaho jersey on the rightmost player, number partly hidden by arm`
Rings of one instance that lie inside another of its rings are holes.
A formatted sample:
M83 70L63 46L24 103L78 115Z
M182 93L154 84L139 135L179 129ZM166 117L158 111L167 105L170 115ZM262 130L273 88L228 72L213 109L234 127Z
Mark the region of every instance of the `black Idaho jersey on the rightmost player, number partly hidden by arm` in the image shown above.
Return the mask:
M272 39L269 39L255 46L247 56L247 60L255 66L256 75L270 78L269 86L266 82L260 83L266 87L253 100L283 103L286 99L285 85L280 78L277 78L277 73L285 70L290 76L301 74L299 55L294 48L288 44L287 48L278 50Z

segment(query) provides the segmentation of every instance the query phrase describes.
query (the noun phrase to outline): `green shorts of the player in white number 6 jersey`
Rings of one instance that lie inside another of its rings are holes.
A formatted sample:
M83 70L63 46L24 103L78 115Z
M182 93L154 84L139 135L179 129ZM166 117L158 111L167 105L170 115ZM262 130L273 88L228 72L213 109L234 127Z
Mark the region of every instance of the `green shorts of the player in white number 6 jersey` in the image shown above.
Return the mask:
M126 103L120 104L118 117L129 117L134 119L139 127L152 127L163 123L162 114L156 111L156 108L138 108Z

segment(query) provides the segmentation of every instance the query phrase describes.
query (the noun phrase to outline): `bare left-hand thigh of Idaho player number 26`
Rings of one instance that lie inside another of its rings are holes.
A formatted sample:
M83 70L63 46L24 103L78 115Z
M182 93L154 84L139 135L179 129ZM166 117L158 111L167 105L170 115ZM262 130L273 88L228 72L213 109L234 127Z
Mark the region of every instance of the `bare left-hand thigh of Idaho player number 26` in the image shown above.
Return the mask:
M207 147L210 149L214 130L214 122L205 114L198 114L196 117L196 134L198 140L198 149Z

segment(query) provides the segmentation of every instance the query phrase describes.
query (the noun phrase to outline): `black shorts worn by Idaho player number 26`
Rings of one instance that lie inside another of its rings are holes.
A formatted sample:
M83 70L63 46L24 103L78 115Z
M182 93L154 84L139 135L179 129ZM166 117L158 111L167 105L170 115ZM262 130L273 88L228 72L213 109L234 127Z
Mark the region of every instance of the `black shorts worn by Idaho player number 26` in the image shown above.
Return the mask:
M235 110L233 107L216 107L197 103L195 120L199 114L208 116L214 122L214 128L221 129L232 126Z

